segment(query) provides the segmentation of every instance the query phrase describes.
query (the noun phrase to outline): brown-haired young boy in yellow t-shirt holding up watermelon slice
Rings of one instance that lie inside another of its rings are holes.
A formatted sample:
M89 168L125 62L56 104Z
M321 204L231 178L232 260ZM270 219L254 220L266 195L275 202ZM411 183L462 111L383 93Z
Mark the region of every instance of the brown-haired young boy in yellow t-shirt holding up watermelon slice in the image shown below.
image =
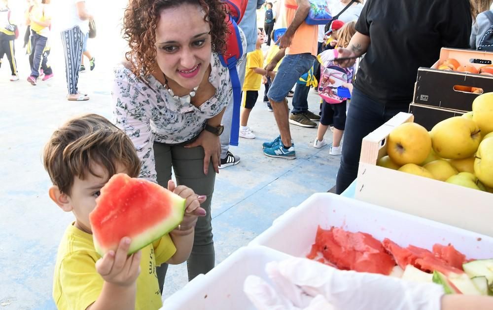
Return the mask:
M132 141L102 116L81 116L53 133L43 162L53 182L50 198L75 217L58 248L53 279L57 309L161 308L156 266L180 264L188 258L195 214L204 214L199 205L205 196L170 181L168 189L186 198L181 230L164 235L130 256L127 251L131 240L124 237L116 251L101 257L94 248L89 213L113 174L139 175L141 163Z

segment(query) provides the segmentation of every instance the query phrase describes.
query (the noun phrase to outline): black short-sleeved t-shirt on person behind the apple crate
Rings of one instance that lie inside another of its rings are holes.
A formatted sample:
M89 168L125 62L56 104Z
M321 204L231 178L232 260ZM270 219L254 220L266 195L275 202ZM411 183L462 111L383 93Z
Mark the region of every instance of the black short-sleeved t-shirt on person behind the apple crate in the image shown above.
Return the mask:
M367 0L356 30L371 43L354 87L389 107L409 105L419 67L441 47L469 48L469 0Z

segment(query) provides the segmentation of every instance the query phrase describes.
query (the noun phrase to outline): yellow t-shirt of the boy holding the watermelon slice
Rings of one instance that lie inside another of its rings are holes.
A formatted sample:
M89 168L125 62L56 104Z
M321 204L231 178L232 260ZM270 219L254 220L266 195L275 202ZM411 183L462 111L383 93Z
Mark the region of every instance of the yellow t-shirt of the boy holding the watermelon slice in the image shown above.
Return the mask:
M141 273L137 278L136 310L162 307L156 266L176 252L169 234L142 249ZM60 242L53 277L53 299L59 310L86 309L99 297L104 280L96 271L101 256L92 235L70 225ZM117 297L115 297L117 298Z

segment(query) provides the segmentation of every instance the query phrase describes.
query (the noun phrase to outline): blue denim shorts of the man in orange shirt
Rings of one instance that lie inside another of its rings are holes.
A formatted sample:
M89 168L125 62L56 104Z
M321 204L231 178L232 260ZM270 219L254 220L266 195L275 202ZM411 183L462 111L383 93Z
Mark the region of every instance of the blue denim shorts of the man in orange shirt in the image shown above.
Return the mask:
M267 97L274 102L283 102L298 78L312 67L314 61L315 56L310 53L284 56Z

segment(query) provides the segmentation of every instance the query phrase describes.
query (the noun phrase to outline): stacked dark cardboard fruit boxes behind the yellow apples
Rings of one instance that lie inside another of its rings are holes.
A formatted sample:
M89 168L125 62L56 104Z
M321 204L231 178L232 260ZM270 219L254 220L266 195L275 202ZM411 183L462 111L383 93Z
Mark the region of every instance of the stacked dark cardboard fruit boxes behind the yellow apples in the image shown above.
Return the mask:
M450 58L456 59L461 65L471 65L478 70L493 64L493 52L442 48L440 59L432 68L418 69L409 113L414 115L415 122L428 130L441 120L471 111L472 102L477 96L493 92L493 76L436 69L439 64ZM471 92L470 89L475 92Z

